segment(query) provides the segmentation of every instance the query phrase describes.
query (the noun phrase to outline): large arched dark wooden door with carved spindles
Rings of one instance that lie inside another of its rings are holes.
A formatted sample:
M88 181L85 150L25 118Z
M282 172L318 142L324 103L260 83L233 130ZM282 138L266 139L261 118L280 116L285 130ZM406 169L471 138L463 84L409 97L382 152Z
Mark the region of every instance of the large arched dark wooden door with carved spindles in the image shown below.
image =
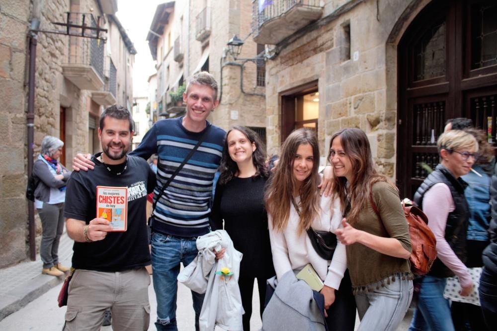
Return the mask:
M398 59L397 185L413 198L438 164L447 119L471 118L496 144L496 1L431 2L402 37Z

